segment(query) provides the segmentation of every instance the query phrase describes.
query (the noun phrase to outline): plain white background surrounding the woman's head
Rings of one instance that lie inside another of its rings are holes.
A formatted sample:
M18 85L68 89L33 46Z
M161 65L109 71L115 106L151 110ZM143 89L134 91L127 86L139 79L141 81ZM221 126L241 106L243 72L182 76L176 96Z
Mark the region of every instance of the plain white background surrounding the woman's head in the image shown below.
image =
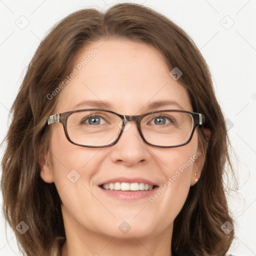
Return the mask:
M152 7L181 26L195 41L210 67L217 98L228 119L228 132L237 160L232 158L240 183L241 198L228 197L236 220L236 238L229 251L237 256L256 255L256 0L133 2ZM45 33L75 10L88 6L106 9L113 3L116 2L0 0L0 140L7 131L7 115L27 64ZM1 156L2 152L3 148ZM9 228L5 237L2 215L0 237L0 255L21 255Z

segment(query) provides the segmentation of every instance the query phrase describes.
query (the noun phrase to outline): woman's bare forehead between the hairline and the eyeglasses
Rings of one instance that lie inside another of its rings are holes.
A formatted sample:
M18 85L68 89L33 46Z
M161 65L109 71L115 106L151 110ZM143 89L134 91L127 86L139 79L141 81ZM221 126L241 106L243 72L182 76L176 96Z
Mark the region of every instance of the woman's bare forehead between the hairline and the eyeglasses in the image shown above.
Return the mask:
M56 112L93 107L79 104L89 100L108 102L106 109L122 114L145 112L159 100L180 105L161 108L192 110L186 89L169 72L163 55L151 45L123 38L95 41L76 55Z

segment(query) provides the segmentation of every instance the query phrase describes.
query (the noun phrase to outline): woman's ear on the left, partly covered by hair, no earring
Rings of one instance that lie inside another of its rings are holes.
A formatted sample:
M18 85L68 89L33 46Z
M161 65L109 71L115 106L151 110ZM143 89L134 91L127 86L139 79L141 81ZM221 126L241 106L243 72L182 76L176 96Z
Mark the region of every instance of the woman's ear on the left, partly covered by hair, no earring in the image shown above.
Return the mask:
M50 164L49 152L45 153L44 150L41 150L38 156L38 164L40 166L40 177L47 183L52 183L53 175Z

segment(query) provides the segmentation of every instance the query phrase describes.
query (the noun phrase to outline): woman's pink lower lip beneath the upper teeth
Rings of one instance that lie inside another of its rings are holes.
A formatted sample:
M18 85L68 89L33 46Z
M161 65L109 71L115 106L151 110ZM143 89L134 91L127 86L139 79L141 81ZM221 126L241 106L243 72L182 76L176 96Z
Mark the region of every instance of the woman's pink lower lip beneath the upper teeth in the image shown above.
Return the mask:
M158 186L151 190L137 190L137 191L123 191L123 190L109 190L99 187L107 195L121 200L138 200L149 197L155 192Z

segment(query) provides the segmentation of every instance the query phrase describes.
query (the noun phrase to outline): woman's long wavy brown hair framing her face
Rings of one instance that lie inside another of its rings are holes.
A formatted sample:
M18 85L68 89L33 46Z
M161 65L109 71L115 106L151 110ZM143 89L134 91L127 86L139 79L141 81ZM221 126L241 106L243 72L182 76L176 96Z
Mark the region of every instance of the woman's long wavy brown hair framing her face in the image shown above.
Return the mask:
M56 255L64 242L60 198L54 183L40 178L37 161L41 150L48 152L45 120L57 102L57 96L49 100L47 95L70 73L79 49L110 36L154 46L162 52L169 70L178 67L183 72L178 81L187 89L193 111L204 114L204 127L211 135L206 139L199 127L205 162L199 181L190 187L174 220L171 250L182 256L224 255L234 236L233 230L225 234L220 228L225 221L233 223L223 188L224 166L231 164L225 121L208 66L180 27L134 3L116 4L106 12L88 8L70 14L41 41L28 66L11 108L1 179L5 218L21 249L26 255ZM15 228L21 220L29 226L24 234Z

